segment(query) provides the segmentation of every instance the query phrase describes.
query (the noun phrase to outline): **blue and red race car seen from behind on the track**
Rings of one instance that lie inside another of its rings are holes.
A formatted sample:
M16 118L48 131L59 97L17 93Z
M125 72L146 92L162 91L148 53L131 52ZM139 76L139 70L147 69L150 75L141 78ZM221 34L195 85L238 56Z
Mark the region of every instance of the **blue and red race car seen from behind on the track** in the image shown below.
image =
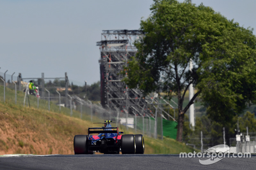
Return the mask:
M121 135L118 127L112 127L112 121L105 121L104 127L88 128L88 135L74 137L75 154L143 154L145 151L144 138L141 134ZM98 134L98 135L92 135Z

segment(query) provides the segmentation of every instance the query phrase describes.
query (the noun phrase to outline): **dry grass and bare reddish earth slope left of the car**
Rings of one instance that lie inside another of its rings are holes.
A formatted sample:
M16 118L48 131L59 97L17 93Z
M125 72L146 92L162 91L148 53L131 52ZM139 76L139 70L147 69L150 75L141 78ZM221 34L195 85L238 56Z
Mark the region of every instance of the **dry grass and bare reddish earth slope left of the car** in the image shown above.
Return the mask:
M90 123L66 115L0 103L0 154L73 154L73 137Z

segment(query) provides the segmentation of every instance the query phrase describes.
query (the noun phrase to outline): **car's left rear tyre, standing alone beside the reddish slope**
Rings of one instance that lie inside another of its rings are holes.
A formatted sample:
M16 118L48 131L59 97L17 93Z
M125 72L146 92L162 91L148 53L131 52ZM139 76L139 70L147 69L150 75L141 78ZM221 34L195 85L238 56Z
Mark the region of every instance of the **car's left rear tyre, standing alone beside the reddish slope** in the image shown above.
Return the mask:
M76 154L88 154L87 151L87 135L76 135L74 137L74 153Z

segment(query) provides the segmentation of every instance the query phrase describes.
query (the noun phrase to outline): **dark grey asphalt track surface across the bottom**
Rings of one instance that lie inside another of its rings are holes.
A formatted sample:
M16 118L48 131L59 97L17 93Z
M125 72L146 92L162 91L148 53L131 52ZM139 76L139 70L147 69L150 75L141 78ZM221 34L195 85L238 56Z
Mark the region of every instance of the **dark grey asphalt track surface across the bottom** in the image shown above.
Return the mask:
M0 169L256 169L256 155L251 155L251 158L222 158L211 165L202 165L199 159L202 158L180 158L179 154L0 156Z

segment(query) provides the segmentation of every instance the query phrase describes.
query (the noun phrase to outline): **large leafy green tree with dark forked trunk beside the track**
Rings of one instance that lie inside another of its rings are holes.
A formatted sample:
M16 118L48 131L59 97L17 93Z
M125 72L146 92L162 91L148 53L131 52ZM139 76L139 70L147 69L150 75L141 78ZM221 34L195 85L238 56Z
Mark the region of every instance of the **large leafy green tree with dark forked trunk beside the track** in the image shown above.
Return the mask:
M144 36L135 43L138 53L125 68L124 82L145 95L164 91L178 97L177 141L182 141L184 114L199 94L210 116L221 123L254 101L256 39L251 30L189 1L154 0L150 10L141 21ZM183 107L191 84L197 92Z

